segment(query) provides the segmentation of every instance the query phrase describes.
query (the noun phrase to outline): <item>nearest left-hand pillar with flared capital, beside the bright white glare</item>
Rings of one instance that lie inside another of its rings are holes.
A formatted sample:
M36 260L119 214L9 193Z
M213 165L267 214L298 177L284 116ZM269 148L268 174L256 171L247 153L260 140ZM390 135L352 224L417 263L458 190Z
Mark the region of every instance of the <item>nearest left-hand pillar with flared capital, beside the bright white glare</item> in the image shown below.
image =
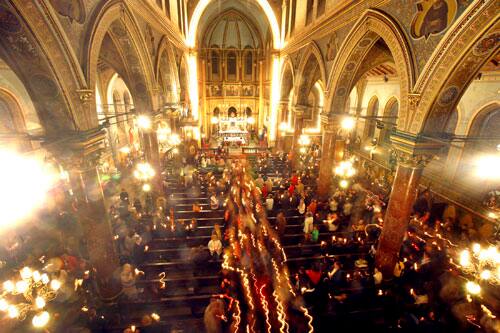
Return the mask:
M76 215L85 235L90 263L95 269L98 292L102 299L112 300L120 293L121 285L114 278L119 260L97 170L104 136L102 130L78 133L64 143L47 148L68 171Z

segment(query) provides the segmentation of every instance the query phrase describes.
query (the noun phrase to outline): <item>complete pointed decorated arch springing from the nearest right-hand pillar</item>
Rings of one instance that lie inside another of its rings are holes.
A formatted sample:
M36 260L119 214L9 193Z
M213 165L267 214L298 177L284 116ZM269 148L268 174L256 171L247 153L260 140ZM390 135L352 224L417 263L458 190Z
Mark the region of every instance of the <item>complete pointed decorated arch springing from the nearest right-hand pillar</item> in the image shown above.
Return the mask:
M415 82L415 65L407 37L387 14L370 9L358 20L342 44L330 71L326 105L330 113L343 113L349 92L356 82L353 77L375 42L382 38L394 58L400 82L398 128L408 122L409 96Z

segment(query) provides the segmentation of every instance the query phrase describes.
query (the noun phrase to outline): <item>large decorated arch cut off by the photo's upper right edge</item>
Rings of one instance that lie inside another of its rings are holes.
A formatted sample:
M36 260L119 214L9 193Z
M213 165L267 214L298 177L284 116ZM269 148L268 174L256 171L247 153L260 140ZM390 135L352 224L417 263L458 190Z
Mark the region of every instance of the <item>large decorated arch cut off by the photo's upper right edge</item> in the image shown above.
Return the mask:
M499 18L498 1L474 2L441 40L415 85L412 133L443 130L474 76L498 52Z

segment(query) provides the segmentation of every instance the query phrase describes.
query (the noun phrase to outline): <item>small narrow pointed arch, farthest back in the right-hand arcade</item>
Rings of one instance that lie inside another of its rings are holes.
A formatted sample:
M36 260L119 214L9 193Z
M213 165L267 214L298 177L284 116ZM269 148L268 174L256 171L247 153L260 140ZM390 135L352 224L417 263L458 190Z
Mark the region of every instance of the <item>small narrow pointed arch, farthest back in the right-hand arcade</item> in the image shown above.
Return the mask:
M314 59L316 61L316 64L318 66L319 70L319 79L321 82L326 82L326 69L325 69L325 63L323 61L323 56L321 55L321 51L316 45L316 43L311 42L306 47L306 53L302 56L301 62L299 64L299 69L297 71L297 77L295 80L295 88L294 91L297 93L295 94L295 104L299 105L306 105L307 104L307 95L308 92L303 93L303 90L307 90L309 87L309 90L314 86L314 83L317 81L315 80L312 75L314 74L316 67L311 66L310 60ZM312 63L312 66L314 66L314 63ZM302 98L301 98L302 97Z

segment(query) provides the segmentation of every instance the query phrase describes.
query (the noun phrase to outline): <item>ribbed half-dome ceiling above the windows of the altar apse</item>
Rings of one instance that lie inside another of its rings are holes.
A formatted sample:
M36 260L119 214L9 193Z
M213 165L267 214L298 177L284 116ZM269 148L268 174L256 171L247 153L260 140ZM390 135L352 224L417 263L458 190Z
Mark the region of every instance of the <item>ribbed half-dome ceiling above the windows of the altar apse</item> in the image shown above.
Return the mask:
M236 11L223 14L208 27L205 33L205 47L259 48L260 36L248 18Z

